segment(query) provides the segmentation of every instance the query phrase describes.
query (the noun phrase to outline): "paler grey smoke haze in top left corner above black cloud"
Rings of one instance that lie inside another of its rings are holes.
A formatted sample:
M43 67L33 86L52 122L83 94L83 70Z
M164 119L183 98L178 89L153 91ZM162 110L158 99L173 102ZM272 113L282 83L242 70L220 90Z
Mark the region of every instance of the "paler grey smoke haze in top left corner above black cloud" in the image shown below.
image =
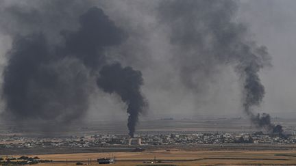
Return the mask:
M0 1L1 31L12 35L42 31L47 38L59 38L61 29L77 29L77 18L91 6L88 0Z

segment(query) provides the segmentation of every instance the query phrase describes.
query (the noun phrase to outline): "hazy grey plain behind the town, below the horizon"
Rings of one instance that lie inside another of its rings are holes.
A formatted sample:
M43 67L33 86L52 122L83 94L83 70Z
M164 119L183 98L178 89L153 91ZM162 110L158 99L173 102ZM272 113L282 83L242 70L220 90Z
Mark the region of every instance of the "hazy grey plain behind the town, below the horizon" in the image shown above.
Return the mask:
M276 118L275 124L284 126L284 130L296 128L296 119ZM52 131L51 133L42 133L30 128L27 124L22 124L26 130L21 130L16 124L5 124L0 122L0 137L4 136L25 136L25 137L43 137L45 134L51 137L67 137L72 135L103 135L116 134L126 135L127 126L125 121L87 121L71 124L66 131ZM32 127L32 126L31 126ZM206 118L196 120L145 120L137 126L136 134L158 134L158 133L252 133L258 131L258 128L251 125L249 120L240 118Z

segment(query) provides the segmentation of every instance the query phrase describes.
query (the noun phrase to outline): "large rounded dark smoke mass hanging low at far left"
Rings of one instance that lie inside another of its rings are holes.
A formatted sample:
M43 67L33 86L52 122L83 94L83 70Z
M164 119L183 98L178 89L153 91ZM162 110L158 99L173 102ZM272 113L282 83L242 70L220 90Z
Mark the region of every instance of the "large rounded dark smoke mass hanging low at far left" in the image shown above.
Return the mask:
M52 54L42 33L18 36L8 53L3 98L18 121L69 123L88 109L88 74L73 59Z

